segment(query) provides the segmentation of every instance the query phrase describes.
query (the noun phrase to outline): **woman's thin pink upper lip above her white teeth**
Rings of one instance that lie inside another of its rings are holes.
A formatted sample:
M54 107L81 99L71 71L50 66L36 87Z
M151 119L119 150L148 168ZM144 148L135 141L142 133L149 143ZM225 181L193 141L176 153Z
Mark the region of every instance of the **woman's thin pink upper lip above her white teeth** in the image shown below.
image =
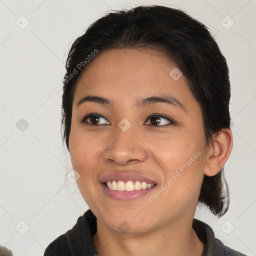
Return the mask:
M100 182L104 183L110 180L122 180L122 181L128 181L128 180L135 180L135 181L141 181L151 184L156 184L157 182L145 177L141 174L137 174L135 172L112 172L109 173L99 179Z

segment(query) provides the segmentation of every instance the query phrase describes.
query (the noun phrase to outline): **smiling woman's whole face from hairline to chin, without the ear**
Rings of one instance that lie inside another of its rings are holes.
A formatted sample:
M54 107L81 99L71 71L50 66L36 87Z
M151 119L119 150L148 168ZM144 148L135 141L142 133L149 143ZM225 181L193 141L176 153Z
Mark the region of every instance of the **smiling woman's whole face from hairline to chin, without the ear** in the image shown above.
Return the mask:
M85 202L113 231L146 232L193 217L205 137L200 106L184 75L170 72L175 66L150 49L111 49L78 78L72 167Z

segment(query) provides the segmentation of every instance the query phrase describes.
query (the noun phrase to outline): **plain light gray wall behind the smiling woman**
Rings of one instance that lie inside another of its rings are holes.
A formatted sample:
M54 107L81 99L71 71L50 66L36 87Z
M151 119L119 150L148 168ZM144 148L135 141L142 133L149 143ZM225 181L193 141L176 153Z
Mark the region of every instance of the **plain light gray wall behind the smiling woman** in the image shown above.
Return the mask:
M46 98L62 81L71 42L104 11L142 3L187 11L211 29L227 59L230 208L219 219L198 208L195 217L224 244L256 255L255 0L0 0L0 244L14 255L42 255L87 209L76 183L66 178L72 167L61 145L61 91ZM21 15L29 21L24 29ZM234 21L229 29L220 23L226 15ZM16 126L21 118L29 124L23 131L22 123Z

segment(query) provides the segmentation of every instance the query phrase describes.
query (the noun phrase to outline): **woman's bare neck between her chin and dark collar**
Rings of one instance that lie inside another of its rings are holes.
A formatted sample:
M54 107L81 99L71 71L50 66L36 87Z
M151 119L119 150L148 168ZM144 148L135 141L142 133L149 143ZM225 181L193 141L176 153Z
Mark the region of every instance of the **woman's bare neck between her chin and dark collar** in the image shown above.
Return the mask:
M204 244L192 229L192 220L179 220L146 233L119 233L97 219L92 237L99 256L201 256Z

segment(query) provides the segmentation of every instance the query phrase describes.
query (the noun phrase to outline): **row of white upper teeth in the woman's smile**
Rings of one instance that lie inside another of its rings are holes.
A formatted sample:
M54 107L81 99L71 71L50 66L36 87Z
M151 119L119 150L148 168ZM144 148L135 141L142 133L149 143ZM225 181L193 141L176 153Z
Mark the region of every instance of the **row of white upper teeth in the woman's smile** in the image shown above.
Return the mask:
M149 188L151 186L153 186L152 183L146 183L146 182L140 182L140 181L135 181L133 184L133 181L129 180L129 181L121 181L118 180L116 181L112 181L112 183L110 181L106 182L107 187L110 190L118 190L118 191L133 191L135 190L139 190L139 189L146 189Z

